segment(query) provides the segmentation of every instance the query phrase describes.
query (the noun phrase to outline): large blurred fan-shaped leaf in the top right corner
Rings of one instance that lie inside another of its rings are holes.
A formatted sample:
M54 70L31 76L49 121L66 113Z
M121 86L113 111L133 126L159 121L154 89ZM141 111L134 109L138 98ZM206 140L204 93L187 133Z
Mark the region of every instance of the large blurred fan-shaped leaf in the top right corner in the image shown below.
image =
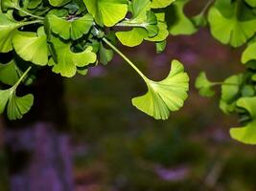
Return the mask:
M240 0L219 0L209 11L211 32L221 43L239 47L256 32L256 16L250 15L252 10L244 10L244 7Z

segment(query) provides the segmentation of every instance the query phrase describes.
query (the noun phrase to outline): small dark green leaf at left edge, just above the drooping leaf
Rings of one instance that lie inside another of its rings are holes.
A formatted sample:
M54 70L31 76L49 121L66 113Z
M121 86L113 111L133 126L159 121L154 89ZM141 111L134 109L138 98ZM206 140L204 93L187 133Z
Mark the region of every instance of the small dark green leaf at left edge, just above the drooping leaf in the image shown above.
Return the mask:
M14 85L19 79L15 61L12 59L7 64L0 63L0 81L7 85Z

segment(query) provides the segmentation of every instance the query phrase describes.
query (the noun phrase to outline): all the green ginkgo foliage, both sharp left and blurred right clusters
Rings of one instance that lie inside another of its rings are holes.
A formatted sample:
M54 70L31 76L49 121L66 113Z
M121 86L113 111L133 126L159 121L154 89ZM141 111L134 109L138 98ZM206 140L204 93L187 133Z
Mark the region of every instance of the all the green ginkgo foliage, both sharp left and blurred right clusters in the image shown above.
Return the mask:
M33 106L34 96L16 96L20 84L30 85L43 67L63 77L87 74L97 64L107 64L119 54L148 87L132 104L156 119L167 119L179 110L189 90L189 76L173 60L171 71L161 81L152 81L116 46L118 41L136 47L144 41L162 53L169 35L193 34L207 24L212 35L232 47L247 44L242 62L247 71L223 82L198 75L196 87L202 96L214 96L221 85L220 107L225 114L239 113L245 124L231 136L256 144L254 118L256 82L256 1L209 0L198 15L184 13L190 0L1 0L0 53L12 60L0 64L0 81L10 88L0 91L0 113L21 118ZM35 97L36 99L36 97ZM248 135L254 135L249 137ZM249 137L249 138L248 138Z

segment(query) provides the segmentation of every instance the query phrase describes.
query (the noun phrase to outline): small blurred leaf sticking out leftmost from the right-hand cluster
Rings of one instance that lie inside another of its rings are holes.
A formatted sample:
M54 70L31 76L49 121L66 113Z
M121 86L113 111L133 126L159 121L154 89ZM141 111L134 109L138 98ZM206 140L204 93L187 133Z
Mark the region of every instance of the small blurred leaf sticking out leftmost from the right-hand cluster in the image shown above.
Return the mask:
M208 80L204 72L201 72L200 74L198 74L195 85L196 85L196 88L198 88L200 96L215 95L215 91L212 90L214 83Z

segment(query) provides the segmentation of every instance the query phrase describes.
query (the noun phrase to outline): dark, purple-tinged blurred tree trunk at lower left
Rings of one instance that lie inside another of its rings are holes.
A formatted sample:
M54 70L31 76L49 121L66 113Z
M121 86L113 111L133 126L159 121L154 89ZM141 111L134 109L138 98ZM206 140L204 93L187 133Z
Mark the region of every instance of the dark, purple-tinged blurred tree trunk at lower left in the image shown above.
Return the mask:
M42 71L35 85L21 88L34 93L35 105L22 120L6 121L11 191L74 190L62 84Z

